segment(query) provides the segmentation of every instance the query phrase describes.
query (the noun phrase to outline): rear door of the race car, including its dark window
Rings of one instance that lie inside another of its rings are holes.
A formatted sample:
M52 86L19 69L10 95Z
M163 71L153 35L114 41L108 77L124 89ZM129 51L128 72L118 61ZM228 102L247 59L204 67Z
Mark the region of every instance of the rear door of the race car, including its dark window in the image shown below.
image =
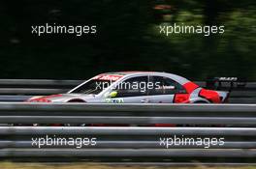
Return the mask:
M148 99L152 103L173 103L178 98L186 97L186 91L175 80L165 76L149 76L149 83L153 87L148 89Z

